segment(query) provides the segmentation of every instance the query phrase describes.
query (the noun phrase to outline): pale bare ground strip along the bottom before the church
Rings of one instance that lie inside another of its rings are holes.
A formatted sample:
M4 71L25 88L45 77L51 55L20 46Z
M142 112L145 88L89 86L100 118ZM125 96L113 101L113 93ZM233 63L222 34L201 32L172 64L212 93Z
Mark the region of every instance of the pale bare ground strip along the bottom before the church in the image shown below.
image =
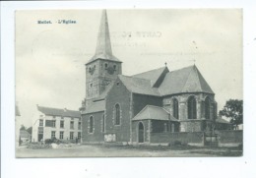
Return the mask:
M240 156L237 148L168 148L168 147L110 147L74 145L71 148L21 147L16 150L16 157L205 157L205 156Z

